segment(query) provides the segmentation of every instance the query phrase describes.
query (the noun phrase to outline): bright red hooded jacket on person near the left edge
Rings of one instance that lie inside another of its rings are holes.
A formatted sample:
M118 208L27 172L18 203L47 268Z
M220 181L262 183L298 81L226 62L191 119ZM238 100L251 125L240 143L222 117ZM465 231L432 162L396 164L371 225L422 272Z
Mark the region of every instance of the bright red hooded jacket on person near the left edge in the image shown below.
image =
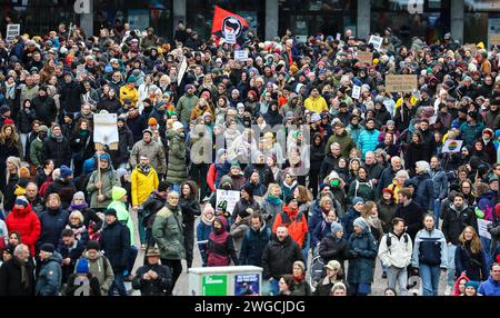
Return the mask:
M12 212L7 216L7 229L9 232L18 231L21 235L21 242L30 248L30 256L34 256L34 244L40 237L41 225L36 212L31 210L31 205L28 205L22 210L12 209Z

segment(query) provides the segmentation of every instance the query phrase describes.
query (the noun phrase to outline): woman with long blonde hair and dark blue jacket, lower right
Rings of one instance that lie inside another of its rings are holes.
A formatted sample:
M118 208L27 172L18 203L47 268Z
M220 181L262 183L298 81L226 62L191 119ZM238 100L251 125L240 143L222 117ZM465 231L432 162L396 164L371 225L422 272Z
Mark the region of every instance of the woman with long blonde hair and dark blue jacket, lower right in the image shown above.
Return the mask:
M467 275L470 280L488 279L488 256L473 227L466 227L459 237L460 246L454 252L456 277Z

